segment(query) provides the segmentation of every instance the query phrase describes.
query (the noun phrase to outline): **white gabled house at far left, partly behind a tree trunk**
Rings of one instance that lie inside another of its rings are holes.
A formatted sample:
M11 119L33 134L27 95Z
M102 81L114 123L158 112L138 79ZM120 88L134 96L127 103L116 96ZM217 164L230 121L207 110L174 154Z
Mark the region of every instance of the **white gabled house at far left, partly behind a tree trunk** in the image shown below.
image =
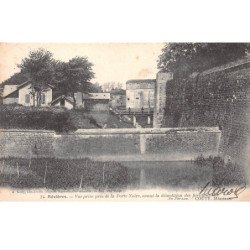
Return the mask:
M53 86L45 84L41 93L41 106L49 106L52 101ZM23 106L37 106L37 94L32 93L31 81L20 85L5 84L3 89L3 104L20 104Z

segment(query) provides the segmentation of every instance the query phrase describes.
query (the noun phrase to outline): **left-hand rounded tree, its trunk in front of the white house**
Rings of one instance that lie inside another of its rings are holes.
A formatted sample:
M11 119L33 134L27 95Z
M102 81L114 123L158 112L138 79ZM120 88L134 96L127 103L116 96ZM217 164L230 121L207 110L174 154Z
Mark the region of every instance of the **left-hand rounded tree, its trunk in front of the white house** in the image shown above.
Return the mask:
M31 80L31 95L33 106L41 105L41 95L47 89L47 84L53 81L55 61L51 52L42 48L31 51L18 67L21 74L29 75Z

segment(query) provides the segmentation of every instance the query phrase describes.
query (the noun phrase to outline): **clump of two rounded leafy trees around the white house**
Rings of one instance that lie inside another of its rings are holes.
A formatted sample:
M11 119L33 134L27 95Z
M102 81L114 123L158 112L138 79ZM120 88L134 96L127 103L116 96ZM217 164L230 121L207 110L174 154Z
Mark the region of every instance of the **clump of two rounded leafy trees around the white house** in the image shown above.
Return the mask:
M86 57L77 56L68 62L61 62L55 60L50 51L40 48L31 51L18 67L20 72L5 80L3 84L21 84L30 80L33 106L41 106L41 96L48 89L48 84L55 87L53 92L56 96L64 94L73 99L77 91L99 90L97 85L90 83L94 78L93 64Z

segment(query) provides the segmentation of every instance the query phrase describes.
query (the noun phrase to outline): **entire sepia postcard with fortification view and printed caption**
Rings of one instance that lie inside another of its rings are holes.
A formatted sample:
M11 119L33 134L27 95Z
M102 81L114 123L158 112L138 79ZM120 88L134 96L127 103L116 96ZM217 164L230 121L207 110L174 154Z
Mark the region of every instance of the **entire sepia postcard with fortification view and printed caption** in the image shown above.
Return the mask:
M249 53L0 43L0 199L250 200Z

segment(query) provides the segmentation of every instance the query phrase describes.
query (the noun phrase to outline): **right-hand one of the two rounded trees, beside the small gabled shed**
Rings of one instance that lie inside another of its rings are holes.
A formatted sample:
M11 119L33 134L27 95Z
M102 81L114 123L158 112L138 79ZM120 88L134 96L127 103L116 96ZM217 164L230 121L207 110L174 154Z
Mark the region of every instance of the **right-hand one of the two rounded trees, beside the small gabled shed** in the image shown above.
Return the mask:
M94 77L93 64L86 57L74 57L69 62L56 63L55 82L61 94L71 96L76 105L75 92L90 92Z

